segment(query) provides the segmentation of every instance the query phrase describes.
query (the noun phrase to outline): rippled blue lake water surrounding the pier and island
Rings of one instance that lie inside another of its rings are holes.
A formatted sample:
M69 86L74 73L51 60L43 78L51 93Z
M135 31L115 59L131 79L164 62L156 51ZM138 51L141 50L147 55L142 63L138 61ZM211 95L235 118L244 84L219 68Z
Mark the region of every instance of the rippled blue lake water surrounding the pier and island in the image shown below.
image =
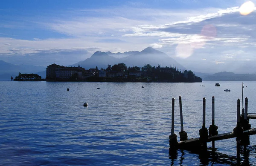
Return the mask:
M215 83L0 81L0 165L236 165L235 138L215 142L217 157L186 150L169 155L172 97L177 135L180 95L189 138L199 137L203 97L207 128L212 96L218 132L236 127L242 82L219 81L220 87ZM255 92L256 82L244 82L249 113L256 113ZM255 127L256 120L250 124ZM247 156L241 152L241 164L256 165L255 135L247 151Z

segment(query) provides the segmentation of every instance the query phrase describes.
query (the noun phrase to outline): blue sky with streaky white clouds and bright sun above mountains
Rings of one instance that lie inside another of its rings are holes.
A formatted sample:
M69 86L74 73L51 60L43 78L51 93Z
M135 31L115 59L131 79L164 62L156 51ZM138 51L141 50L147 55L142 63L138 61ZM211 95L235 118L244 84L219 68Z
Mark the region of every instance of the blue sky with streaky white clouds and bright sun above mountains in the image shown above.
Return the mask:
M148 46L196 72L256 73L255 1L8 0L0 60L72 65L96 51Z

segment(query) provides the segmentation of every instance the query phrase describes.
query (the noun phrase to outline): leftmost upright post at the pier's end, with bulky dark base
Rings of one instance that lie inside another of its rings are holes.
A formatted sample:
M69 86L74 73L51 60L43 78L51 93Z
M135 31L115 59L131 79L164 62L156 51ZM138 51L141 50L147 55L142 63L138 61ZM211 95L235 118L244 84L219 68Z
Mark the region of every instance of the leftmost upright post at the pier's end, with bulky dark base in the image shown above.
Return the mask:
M172 98L172 129L171 129L171 135L169 135L169 152L170 151L176 151L178 149L178 140L177 135L174 134L174 103L175 98Z

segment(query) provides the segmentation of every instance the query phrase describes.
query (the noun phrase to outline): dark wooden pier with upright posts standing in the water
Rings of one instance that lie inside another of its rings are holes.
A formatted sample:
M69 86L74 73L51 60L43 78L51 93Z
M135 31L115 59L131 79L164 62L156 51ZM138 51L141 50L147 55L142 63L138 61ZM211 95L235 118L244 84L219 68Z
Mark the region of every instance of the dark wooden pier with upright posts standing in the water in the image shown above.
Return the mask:
M177 149L201 149L207 148L207 142L212 142L212 148L215 148L215 141L218 140L225 140L230 138L236 137L237 143L237 152L239 153L240 146L247 146L250 144L249 135L256 135L256 128L251 129L251 125L249 123L250 119L256 119L256 114L248 114L248 98L245 98L245 108L241 109L240 114L240 100L237 100L237 125L233 129L233 132L227 132L223 134L218 134L218 126L215 126L214 120L214 112L215 112L215 98L212 97L212 125L209 126L209 133L208 129L205 126L205 98L203 98L203 125L202 128L199 130L200 137L198 138L191 138L187 139L187 133L183 129L183 115L182 115L182 106L181 106L181 96L179 97L180 100L180 141L177 141L177 135L174 133L174 103L175 99L172 98L172 130L171 135L169 136L169 145L170 150L177 150Z

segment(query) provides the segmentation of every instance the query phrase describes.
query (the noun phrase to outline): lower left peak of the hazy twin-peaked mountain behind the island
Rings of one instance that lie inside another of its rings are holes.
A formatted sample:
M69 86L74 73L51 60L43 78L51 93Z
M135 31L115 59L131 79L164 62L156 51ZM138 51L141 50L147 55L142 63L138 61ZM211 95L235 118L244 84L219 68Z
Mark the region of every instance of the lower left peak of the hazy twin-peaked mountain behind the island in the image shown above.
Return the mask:
M112 57L108 55L106 52L95 52L90 58L87 58L84 61L80 61L79 63L75 63L70 66L78 66L80 64L81 67L85 69L90 69L90 68L104 68L106 69L108 67L108 64L114 65L119 63L119 59Z

